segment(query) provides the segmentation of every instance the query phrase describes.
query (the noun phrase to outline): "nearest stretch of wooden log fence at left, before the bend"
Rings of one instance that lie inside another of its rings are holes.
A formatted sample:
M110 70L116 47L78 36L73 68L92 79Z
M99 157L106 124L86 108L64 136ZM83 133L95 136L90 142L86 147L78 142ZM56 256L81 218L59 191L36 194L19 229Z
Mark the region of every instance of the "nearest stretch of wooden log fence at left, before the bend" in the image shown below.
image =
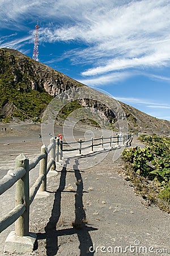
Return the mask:
M14 223L18 218L20 218L18 224L15 225L15 233L19 236L28 235L29 205L31 205L39 188L40 191L46 191L46 175L55 161L54 159L50 159L49 163L47 164L48 153L52 151L53 148L56 148L55 139L52 138L51 140L53 140L53 142L49 144L48 150L46 150L46 147L43 145L41 147L41 154L35 159L32 159L31 163L29 163L29 160L24 154L20 154L15 160L15 170L9 170L7 174L0 180L0 195L2 195L2 193L7 191L7 189L16 183L16 205L15 208L7 213L5 217L1 218L0 233ZM32 187L29 188L29 171L35 168L39 162L39 177ZM18 205L20 205L20 207L18 207ZM25 209L24 212L23 209ZM28 216L25 216L25 212L27 212ZM22 223L21 225L20 222ZM22 230L22 232L20 232L20 230Z

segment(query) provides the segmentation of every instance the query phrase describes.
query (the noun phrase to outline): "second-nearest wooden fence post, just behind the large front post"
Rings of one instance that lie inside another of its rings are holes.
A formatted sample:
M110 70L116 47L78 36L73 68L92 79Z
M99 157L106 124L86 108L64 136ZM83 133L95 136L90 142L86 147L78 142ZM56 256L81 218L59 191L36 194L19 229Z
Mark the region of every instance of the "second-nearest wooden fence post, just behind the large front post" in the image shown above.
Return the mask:
M39 170L39 175L44 175L44 180L42 180L42 183L40 185L39 191L46 191L46 166L47 166L47 148L45 145L42 145L41 147L41 154L45 154L45 158L42 158L40 160L40 170Z

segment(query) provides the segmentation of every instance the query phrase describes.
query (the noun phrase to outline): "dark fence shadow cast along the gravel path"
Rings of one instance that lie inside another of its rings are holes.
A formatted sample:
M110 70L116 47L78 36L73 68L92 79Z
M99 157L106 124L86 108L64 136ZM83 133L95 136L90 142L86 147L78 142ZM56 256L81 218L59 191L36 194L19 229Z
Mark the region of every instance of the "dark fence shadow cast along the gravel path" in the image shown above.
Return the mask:
M69 162L67 161L67 164ZM83 207L83 181L80 171L78 169L78 160L75 159L74 174L76 177L76 193L75 193L75 221L73 228L56 230L56 225L61 215L61 192L66 185L66 167L62 168L59 187L55 192L52 214L49 218L48 224L45 226L45 233L37 233L37 240L46 239L46 256L54 256L58 251L58 237L78 235L80 256L94 255L89 248L93 246L89 232L97 230L91 226L87 226L86 213Z

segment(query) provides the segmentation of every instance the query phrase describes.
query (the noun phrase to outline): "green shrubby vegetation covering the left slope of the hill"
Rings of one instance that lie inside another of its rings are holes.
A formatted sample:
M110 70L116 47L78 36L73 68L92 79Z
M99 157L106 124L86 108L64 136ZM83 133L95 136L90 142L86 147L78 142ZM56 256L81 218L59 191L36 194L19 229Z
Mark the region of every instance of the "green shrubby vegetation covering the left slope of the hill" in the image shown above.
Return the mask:
M53 98L40 87L32 90L31 61L28 57L21 61L23 72L13 55L1 51L0 108L8 105L0 115L2 122L10 121L11 117L40 121L40 114Z

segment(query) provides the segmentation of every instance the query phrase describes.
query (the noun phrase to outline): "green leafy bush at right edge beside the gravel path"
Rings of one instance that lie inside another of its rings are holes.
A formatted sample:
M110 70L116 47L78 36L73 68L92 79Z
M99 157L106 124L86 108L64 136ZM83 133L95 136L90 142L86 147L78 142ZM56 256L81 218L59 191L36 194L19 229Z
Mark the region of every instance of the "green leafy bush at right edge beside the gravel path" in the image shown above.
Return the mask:
M142 134L139 139L146 147L126 149L122 154L128 163L126 175L144 197L167 209L170 203L170 138ZM160 201L166 201L167 205Z

